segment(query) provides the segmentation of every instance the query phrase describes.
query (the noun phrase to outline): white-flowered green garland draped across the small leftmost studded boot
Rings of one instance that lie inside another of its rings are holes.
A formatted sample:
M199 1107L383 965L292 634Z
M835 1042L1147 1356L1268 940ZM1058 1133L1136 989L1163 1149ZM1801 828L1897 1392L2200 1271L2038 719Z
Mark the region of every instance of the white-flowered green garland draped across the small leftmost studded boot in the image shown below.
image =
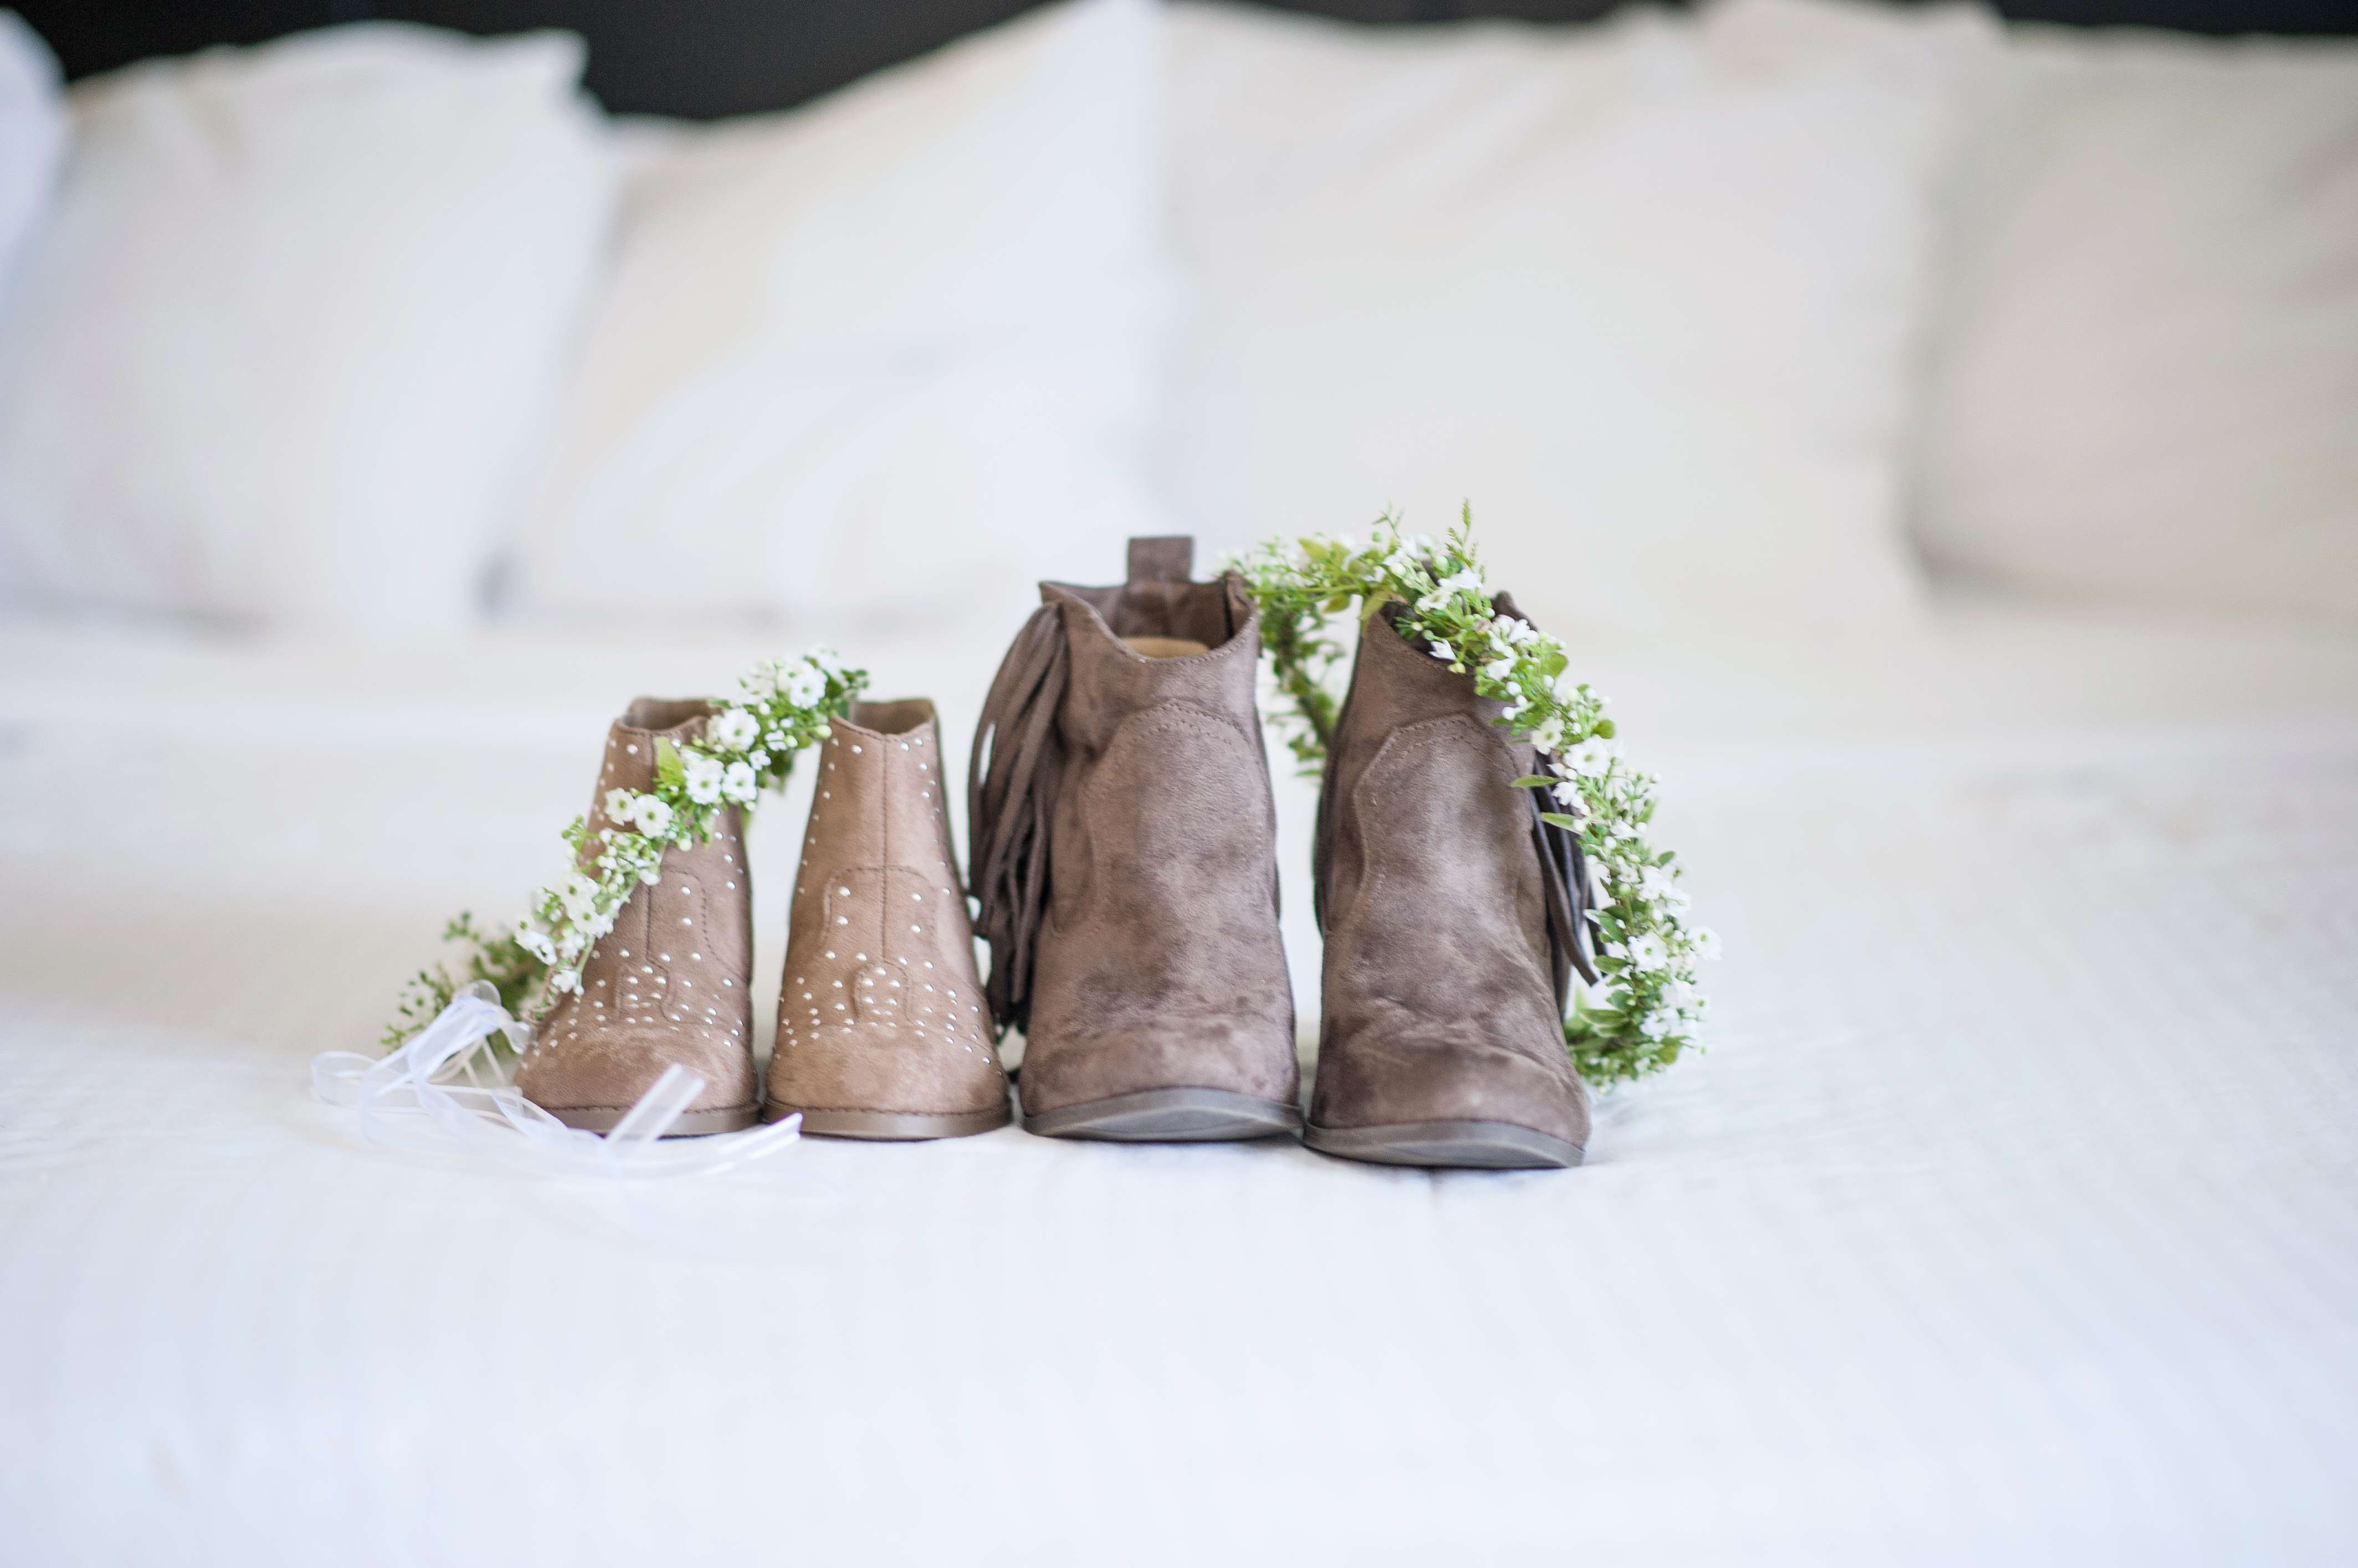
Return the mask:
M408 1040L467 981L498 986L500 1004L519 1019L580 990L582 964L632 891L663 879L663 854L707 842L731 806L750 809L762 790L783 788L795 755L823 740L828 722L849 714L865 686L865 670L847 670L825 648L747 670L738 696L714 700L698 740L656 743L656 788L608 790L608 825L594 832L587 818L573 818L564 830L573 872L540 889L512 931L483 931L472 915L443 927L443 941L465 948L462 979L448 964L420 969L384 1028L384 1047Z

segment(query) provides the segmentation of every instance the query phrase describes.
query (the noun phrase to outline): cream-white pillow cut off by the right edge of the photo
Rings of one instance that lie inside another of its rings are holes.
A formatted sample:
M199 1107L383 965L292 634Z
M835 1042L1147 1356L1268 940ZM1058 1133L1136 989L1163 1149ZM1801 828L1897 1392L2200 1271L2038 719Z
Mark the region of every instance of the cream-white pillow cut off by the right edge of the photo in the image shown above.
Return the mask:
M1934 561L2358 625L2358 47L2023 28L1981 123Z

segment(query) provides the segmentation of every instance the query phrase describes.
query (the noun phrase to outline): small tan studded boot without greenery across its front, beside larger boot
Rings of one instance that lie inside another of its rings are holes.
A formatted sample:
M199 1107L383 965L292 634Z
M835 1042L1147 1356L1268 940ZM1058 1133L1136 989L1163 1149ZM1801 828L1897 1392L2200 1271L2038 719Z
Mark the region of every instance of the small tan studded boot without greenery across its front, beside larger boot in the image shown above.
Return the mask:
M818 747L766 1118L839 1139L1005 1127L934 705L856 703Z

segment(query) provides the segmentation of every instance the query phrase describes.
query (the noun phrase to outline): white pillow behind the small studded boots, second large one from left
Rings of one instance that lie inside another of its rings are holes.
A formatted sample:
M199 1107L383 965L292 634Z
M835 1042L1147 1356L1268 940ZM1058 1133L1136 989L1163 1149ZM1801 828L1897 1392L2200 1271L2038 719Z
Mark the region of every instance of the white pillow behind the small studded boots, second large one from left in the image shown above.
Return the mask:
M521 608L1005 618L1158 531L1155 38L1073 0L646 153Z

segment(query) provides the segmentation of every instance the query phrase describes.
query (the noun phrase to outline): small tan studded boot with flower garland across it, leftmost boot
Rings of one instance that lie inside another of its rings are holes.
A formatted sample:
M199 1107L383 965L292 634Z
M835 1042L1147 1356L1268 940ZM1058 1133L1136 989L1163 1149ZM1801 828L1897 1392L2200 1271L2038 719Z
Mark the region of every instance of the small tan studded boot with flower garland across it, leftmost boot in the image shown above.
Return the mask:
M604 832L608 790L651 790L656 743L703 736L707 703L639 698L606 731L590 802ZM731 809L696 849L663 851L663 879L639 887L582 964L582 988L549 1009L516 1066L516 1089L566 1122L611 1129L674 1061L705 1080L674 1134L752 1127L752 882L745 818Z

